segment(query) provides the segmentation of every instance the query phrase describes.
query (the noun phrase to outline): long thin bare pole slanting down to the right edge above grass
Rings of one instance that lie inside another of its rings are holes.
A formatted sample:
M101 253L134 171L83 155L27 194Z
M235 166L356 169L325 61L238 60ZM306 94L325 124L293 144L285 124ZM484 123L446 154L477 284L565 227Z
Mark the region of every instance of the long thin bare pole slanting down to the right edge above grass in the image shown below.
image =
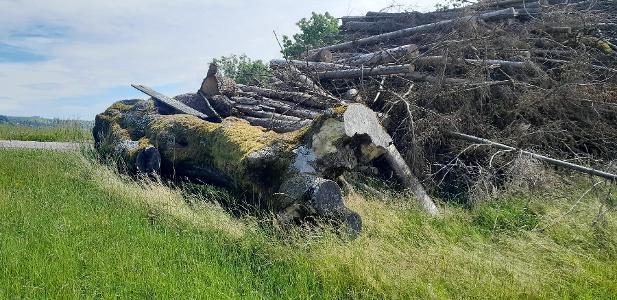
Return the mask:
M599 177L606 178L606 179L609 179L609 180L617 181L617 175L615 175L615 174L611 174L611 173L607 173L607 172L604 172L604 171L592 169L592 168L589 168L589 167L584 167L584 166L581 166L581 165L569 163L569 162L566 162L566 161L563 161L563 160L558 160L558 159L550 158L550 157L547 157L547 156L544 156L544 155L536 154L536 153L533 153L533 152L530 152L530 151L526 151L526 150L522 150L522 149L517 149L517 148L512 147L512 146L500 144L500 143L497 143L497 142L493 142L491 140L475 137L475 136L472 136L472 135L467 135L467 134L460 133L460 132L450 132L450 135L455 137L455 138L467 140L467 141L474 142L474 143L491 145L491 146L494 146L496 148L503 149L503 150L520 151L521 153L527 154L527 155L529 155L529 156L531 156L531 157L533 157L535 159L547 162L547 163L552 164L552 165L556 165L556 166L564 167L564 168L567 168L567 169L570 169L570 170L574 170L574 171L577 171L577 172L581 172L581 173L585 173L585 174L589 174L589 175L594 175L594 176L599 176Z

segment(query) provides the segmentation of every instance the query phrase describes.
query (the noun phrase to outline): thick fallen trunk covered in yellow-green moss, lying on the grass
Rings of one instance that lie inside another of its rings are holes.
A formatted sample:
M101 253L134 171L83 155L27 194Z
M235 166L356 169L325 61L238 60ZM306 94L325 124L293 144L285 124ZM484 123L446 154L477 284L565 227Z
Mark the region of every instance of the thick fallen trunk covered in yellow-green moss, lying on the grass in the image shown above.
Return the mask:
M340 166L301 166L305 152L299 149L310 140L307 134L316 131L279 134L235 117L211 123L191 115L160 114L152 100L130 100L98 115L94 135L96 149L105 156L131 161L133 154L116 149L136 143L144 153L160 153L163 175L252 193L248 198L262 199L260 203L284 215L325 217L357 233L360 217L345 207L338 185L323 178ZM132 172L141 171L135 163L127 165Z

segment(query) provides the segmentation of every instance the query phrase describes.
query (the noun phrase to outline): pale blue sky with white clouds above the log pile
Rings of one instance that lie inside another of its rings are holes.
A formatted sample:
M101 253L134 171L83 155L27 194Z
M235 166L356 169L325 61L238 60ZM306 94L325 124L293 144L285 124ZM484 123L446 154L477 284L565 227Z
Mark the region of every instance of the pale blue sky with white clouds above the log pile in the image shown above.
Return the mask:
M280 58L311 12L434 8L436 0L0 0L0 115L92 120L144 84L197 90L215 57Z

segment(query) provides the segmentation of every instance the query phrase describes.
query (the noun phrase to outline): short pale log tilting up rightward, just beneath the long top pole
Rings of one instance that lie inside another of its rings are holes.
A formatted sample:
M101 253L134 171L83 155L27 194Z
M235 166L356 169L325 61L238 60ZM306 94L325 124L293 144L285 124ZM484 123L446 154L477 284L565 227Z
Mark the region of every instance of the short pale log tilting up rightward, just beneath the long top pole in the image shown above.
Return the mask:
M410 44L350 57L340 63L352 66L376 66L388 63L405 62L417 56L417 54L418 47L414 44Z

